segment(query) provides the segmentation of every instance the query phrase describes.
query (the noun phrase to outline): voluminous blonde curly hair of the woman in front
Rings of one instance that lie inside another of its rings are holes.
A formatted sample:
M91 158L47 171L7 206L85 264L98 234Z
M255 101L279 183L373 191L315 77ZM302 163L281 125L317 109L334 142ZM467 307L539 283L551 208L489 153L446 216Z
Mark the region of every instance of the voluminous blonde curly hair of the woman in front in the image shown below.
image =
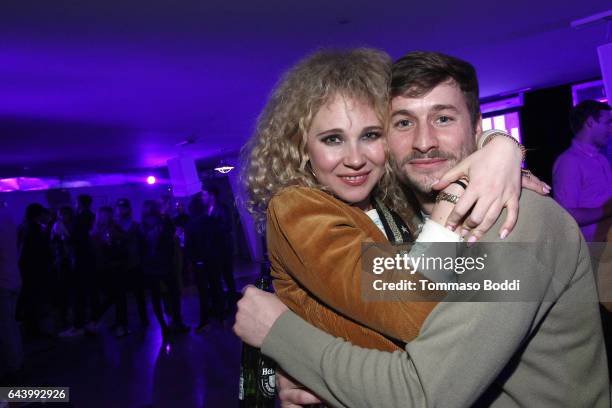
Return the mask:
M372 106L386 127L390 79L389 56L367 48L318 51L285 73L241 152L246 207L260 228L270 199L284 187L328 191L314 177L306 152L307 132L319 109L336 95L357 99ZM411 207L388 162L373 194L410 220Z

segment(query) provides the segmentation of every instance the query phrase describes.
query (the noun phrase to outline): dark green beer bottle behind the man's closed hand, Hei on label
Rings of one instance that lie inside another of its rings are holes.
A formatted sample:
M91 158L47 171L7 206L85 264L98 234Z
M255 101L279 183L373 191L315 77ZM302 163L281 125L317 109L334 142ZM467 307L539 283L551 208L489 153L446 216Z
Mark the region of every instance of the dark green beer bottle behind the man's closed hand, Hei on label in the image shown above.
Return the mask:
M261 265L259 278L255 282L259 289L272 291L270 264ZM261 354L258 348L242 344L240 364L240 389L238 401L245 408L274 408L276 400L276 366Z

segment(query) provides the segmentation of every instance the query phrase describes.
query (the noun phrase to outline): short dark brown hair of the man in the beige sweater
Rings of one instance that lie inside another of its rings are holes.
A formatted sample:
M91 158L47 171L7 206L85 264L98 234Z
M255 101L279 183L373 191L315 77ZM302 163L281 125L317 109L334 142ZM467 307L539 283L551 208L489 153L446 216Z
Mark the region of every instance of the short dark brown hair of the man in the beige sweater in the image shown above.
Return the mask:
M448 80L454 80L463 92L472 127L475 128L480 119L476 69L459 58L431 51L414 51L404 55L393 63L391 98L419 98Z

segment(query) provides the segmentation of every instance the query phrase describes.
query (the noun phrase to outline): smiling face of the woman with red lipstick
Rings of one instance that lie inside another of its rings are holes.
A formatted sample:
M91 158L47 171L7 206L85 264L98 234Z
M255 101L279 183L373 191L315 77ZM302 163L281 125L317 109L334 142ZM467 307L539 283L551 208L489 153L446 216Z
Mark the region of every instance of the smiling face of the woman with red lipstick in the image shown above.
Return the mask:
M306 152L315 177L342 201L370 208L384 173L382 124L367 103L336 95L312 120Z

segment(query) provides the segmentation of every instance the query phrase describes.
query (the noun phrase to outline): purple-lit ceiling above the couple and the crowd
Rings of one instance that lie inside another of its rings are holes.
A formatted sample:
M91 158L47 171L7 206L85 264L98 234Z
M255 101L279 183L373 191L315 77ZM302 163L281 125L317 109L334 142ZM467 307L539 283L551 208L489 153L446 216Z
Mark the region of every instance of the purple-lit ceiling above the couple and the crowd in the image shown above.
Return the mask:
M450 53L474 63L483 97L600 75L606 25L570 21L609 0L421 3L3 0L0 178L231 156L280 74L321 47Z

